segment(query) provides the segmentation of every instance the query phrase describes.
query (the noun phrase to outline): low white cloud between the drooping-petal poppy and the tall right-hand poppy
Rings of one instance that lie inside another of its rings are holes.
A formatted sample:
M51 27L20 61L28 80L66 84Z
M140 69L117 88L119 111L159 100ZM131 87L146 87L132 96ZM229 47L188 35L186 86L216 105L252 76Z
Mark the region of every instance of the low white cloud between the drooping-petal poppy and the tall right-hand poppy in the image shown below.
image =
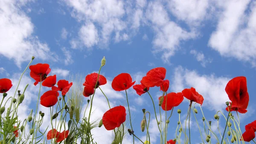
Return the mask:
M225 87L231 78L216 77L212 75L199 75L196 71L190 71L179 66L175 69L171 88L175 92L181 92L185 88L194 87L204 97L203 107L209 110L220 110L226 107L229 101Z

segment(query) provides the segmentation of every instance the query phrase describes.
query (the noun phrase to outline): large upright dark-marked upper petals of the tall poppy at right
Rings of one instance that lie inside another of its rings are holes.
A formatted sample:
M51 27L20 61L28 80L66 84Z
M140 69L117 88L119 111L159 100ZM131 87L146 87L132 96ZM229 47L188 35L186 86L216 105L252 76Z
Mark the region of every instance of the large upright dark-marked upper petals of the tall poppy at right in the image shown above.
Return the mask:
M232 104L236 105L241 109L247 109L249 103L249 94L247 92L246 78L236 77L227 83L225 88L227 95L232 101Z

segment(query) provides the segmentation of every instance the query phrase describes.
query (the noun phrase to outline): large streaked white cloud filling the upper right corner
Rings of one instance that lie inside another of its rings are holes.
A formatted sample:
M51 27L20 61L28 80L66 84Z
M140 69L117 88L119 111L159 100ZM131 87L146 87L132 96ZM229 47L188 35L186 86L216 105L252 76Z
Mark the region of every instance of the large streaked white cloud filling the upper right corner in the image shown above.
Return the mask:
M234 57L256 66L256 42L253 39L256 36L256 3L230 0L222 3L221 8L223 12L209 39L209 46L224 57Z

